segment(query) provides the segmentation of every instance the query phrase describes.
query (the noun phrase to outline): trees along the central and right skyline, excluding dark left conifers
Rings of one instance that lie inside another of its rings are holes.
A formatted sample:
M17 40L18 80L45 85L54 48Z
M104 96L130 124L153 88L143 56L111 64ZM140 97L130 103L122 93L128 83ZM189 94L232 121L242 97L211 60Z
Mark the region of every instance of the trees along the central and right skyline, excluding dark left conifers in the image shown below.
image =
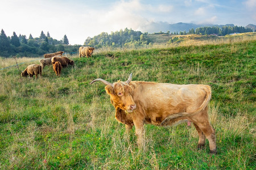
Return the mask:
M171 32L167 31L166 33L160 31L158 33L152 33L152 35L192 35L192 34L200 34L200 35L218 35L225 36L230 33L244 33L244 32L253 32L251 28L238 27L238 26L224 26L224 27L199 27L199 28L191 28L189 32L180 31ZM112 46L112 47L130 47L130 48L139 48L144 45L148 45L153 43L154 40L148 38L148 32L142 33L141 31L133 31L132 29L120 30L111 32L110 34L106 32L102 32L100 35L94 36L93 38L88 37L84 45L86 46L94 46L95 48L101 48L103 46Z

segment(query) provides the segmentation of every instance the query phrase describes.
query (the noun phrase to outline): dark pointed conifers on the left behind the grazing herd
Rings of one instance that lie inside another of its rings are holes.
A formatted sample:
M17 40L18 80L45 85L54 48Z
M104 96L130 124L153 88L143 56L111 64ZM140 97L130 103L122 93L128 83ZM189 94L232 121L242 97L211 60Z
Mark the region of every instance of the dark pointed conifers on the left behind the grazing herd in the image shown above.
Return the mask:
M0 56L26 56L26 57L38 57L46 53L53 53L56 51L65 51L65 45L68 45L68 37L64 35L63 40L53 39L49 32L47 35L42 31L39 37L26 37L26 35L13 35L6 36L5 31L0 33ZM73 49L69 49L73 50Z

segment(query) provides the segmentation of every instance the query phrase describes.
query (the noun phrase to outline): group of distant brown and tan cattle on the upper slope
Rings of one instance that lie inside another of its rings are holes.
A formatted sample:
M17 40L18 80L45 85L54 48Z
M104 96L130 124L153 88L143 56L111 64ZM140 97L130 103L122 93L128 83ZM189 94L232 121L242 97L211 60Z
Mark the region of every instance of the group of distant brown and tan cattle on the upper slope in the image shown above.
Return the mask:
M91 57L93 50L94 48L90 46L80 46L79 57ZM63 67L67 67L68 65L74 65L73 60L62 56L63 53L63 51L60 51L56 53L44 54L44 59L40 59L40 65L28 65L27 68L21 73L21 75L25 77L29 75L30 78L32 78L33 75L35 75L37 79L38 75L42 76L42 70L45 66L52 65L53 71L55 72L56 76L60 76L61 69Z

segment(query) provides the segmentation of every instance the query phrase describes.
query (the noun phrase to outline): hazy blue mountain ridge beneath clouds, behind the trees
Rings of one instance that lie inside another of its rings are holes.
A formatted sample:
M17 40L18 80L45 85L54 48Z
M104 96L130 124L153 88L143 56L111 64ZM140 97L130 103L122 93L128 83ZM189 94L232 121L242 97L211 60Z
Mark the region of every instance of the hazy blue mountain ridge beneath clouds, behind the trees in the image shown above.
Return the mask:
M148 32L148 33L154 33L154 32L180 32L180 31L189 31L189 29L196 29L199 27L224 27L224 26L230 26L234 27L234 24L225 24L225 25L217 25L217 24L193 24L193 23L176 23L176 24L168 24L167 22L151 22L147 25L144 25L144 27L141 27L139 30L142 32Z

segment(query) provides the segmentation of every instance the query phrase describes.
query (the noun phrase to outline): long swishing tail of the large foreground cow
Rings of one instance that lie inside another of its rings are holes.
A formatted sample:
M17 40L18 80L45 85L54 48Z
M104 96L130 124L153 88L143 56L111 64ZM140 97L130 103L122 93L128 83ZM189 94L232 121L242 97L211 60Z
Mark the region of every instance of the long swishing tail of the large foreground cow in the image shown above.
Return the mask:
M209 101L210 101L210 97L212 96L212 91L210 90L210 86L204 86L205 91L205 100L204 102L200 105L199 108L197 108L195 111L193 112L181 112L181 113L175 113L175 114L171 114L170 116L168 116L167 118L165 118L163 120L163 122L161 122L162 126L166 126L169 125L171 122L174 121L174 119L176 118L180 118L180 117L187 117L187 116L193 116L201 111L203 111L203 109L205 107L207 107Z

